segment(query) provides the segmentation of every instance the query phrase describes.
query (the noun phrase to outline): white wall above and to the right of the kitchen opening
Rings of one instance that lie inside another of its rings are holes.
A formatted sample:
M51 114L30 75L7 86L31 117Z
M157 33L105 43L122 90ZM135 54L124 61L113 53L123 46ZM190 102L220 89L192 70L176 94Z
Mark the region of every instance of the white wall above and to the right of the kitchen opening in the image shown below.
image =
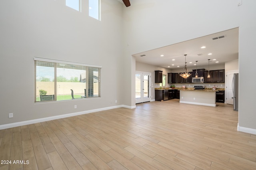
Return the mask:
M248 74L254 72L256 63L252 57L256 44L256 1L243 0L241 6L234 0L130 2L132 5L124 8L124 42L129 43L125 62L132 54L239 27L239 126L256 129L256 91L248 95L246 81L250 79L252 85L256 84L256 79ZM134 103L132 99L131 105Z

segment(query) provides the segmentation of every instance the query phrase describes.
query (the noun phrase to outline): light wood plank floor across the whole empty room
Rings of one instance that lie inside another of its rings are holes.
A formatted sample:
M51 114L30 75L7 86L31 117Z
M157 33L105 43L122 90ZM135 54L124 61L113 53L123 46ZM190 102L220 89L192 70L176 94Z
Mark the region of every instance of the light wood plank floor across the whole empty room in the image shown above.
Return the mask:
M256 135L237 123L232 105L173 99L8 128L0 170L256 169Z

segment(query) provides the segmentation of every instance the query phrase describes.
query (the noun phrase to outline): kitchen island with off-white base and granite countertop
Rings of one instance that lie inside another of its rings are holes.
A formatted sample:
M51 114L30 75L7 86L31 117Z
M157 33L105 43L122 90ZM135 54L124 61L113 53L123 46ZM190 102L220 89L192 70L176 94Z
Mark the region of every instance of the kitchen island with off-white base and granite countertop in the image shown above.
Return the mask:
M215 90L179 89L180 103L216 107Z

